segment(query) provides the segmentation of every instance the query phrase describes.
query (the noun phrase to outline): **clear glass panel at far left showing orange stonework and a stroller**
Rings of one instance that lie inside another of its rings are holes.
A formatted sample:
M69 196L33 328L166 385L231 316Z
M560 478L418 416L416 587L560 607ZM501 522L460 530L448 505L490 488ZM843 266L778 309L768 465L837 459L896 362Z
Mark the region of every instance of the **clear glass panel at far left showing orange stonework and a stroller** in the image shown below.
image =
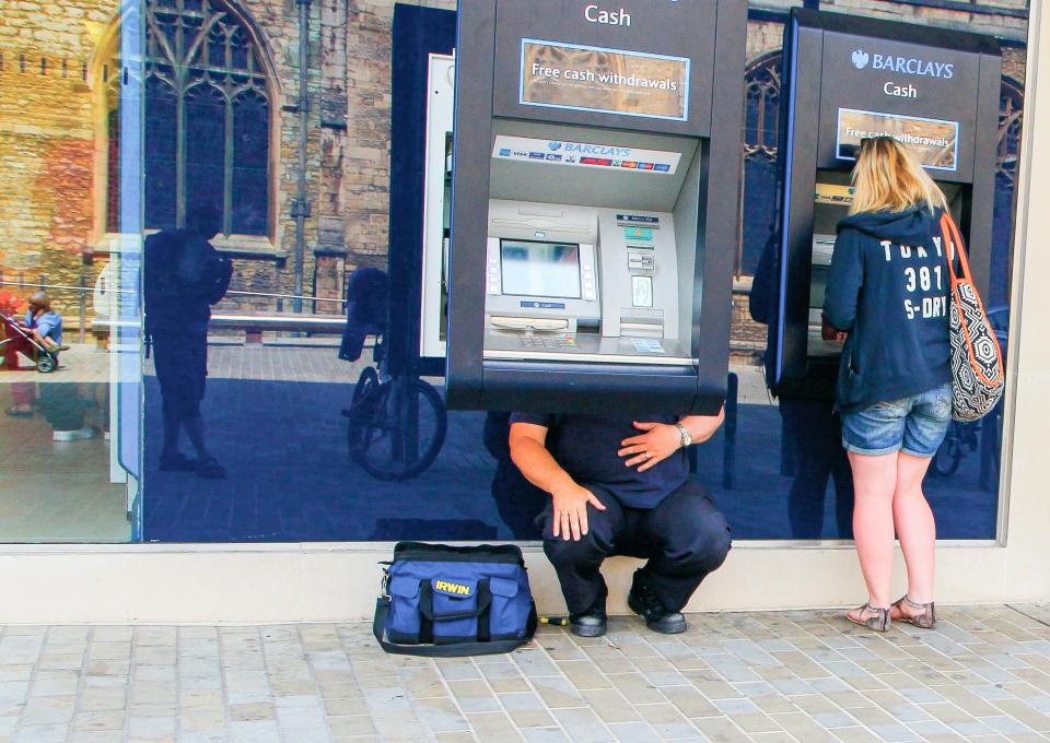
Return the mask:
M141 22L0 17L0 541L138 535Z

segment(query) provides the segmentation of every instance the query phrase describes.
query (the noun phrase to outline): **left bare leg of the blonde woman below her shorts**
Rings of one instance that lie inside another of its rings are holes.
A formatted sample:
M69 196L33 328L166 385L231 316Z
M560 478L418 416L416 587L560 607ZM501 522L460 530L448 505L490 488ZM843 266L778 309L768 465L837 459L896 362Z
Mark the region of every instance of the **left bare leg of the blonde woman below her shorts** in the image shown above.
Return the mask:
M876 609L887 609L894 568L897 452L867 456L851 451L850 464L855 497L853 536L867 583L868 603Z

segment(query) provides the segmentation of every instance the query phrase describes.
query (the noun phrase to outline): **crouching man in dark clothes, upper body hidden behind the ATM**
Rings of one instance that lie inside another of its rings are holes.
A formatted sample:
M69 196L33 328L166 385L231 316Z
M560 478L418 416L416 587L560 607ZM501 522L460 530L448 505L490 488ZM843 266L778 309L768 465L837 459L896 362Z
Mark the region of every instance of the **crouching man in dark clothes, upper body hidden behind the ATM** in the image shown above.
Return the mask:
M730 551L730 528L689 477L686 448L722 425L716 416L511 416L511 457L550 494L544 551L558 573L571 630L604 635L609 555L649 562L634 573L628 604L650 629L685 632L681 609Z

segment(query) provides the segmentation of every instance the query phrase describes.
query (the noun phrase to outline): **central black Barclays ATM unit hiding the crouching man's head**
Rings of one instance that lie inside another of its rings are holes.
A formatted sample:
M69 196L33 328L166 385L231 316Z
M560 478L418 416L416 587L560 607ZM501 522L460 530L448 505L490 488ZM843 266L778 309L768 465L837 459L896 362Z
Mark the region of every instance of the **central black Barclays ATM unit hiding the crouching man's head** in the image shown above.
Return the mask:
M460 2L448 408L719 410L746 4Z

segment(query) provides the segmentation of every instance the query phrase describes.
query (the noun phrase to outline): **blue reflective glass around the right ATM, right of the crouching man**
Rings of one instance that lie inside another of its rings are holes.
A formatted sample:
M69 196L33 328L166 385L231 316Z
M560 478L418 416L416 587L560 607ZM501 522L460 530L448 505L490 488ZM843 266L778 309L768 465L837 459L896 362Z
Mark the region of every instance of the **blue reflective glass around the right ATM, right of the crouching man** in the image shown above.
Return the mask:
M803 4L803 3L784 3ZM1003 78L995 175L994 241L989 312L1008 349L1010 280L1017 142L1024 101L1027 3L888 2L877 9L851 0L805 3L820 10L977 31L999 39ZM774 163L780 155L780 86L785 16L769 3L751 3L746 73L744 208L734 284L731 394L727 425L699 450L699 471L737 539L844 539L852 535L852 477L840 445L830 384L805 397L773 398L767 390L766 325L750 311L751 288L765 249L777 234ZM976 25L975 25L976 24ZM975 82L976 84L976 82ZM832 225L833 226L833 225ZM833 232L833 229L832 229ZM953 423L934 457L924 491L942 539L994 539L1000 503L1002 406L972 424ZM727 452L732 452L727 456Z

